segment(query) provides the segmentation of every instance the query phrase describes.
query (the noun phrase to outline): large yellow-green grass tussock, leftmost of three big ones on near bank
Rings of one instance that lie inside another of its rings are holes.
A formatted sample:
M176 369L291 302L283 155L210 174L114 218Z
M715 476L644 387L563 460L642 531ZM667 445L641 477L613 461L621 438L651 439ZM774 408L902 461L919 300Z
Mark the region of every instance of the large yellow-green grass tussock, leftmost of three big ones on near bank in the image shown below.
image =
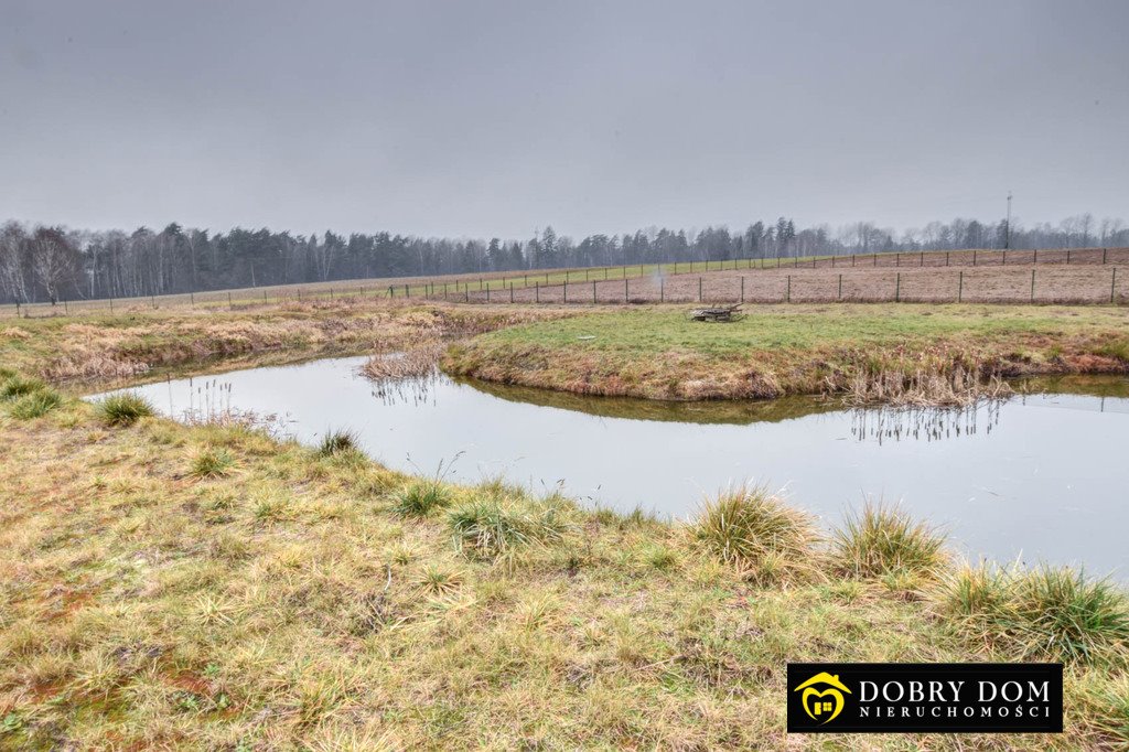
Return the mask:
M758 584L813 579L822 569L814 521L764 488L729 489L707 501L691 533Z

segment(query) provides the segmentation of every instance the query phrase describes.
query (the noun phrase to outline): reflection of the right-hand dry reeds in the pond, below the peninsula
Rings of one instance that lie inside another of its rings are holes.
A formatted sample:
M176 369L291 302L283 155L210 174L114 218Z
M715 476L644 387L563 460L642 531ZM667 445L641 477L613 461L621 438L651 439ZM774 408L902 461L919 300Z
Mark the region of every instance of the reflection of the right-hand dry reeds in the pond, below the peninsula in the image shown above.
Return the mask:
M851 410L850 432L859 441L940 441L991 434L1006 400L980 400L960 408L877 406Z

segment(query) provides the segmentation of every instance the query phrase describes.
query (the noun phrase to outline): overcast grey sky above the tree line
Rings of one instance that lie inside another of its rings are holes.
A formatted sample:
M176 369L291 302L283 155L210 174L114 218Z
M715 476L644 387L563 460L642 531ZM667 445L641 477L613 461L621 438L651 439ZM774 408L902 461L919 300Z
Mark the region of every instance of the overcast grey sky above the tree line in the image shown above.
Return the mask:
M0 219L1129 219L1129 2L0 0Z

